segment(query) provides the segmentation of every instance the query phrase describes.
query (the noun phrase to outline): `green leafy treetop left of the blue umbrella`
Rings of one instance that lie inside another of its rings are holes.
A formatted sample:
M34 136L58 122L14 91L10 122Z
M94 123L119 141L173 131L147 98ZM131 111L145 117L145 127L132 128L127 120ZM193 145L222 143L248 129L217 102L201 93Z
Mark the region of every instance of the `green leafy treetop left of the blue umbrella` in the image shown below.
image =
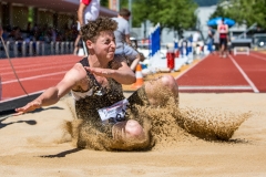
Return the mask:
M197 4L193 0L134 0L133 25L150 20L160 23L161 28L170 28L182 33L183 30L196 24L195 10Z

